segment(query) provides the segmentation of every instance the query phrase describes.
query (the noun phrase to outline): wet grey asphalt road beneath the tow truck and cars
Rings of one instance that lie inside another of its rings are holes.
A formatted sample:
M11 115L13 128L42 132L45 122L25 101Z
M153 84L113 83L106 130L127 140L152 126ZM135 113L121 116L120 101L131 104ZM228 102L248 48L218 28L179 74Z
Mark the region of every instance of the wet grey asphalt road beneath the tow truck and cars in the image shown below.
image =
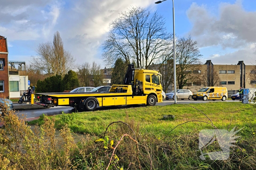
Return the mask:
M189 103L207 103L207 102L239 102L238 100L233 101L233 100L226 100L226 101L221 101L221 100L207 100L207 101L202 101L202 100L177 100L177 103L182 103L182 104L189 104ZM164 100L162 103L157 103L157 106L165 106L168 104L174 103L174 100ZM16 103L14 103L16 104ZM138 104L138 105L123 105L123 106L108 106L108 107L98 107L97 110L111 110L111 109L122 109L122 108L131 108L131 107L145 107L146 105L143 104ZM62 114L62 111L64 113L73 113L76 112L76 110L72 107L65 107L65 106L58 106L58 107L51 107L49 109L38 109L38 110L24 110L24 111L16 111L18 114L24 114L26 115L27 118L31 117L39 117L41 114L46 114L46 115L58 115Z

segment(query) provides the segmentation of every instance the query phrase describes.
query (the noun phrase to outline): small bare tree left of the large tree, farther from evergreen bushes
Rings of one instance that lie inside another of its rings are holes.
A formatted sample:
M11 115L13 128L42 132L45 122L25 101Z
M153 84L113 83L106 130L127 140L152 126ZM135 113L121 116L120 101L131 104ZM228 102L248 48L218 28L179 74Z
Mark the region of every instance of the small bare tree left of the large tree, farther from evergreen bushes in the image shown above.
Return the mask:
M93 61L90 72L94 87L101 86L103 84L104 75L101 72L100 64Z

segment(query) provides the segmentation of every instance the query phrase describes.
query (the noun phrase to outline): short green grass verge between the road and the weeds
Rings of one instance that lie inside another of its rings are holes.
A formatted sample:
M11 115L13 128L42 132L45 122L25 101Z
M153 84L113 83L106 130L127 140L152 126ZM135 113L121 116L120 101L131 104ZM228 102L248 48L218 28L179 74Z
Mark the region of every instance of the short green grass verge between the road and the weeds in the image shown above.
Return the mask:
M238 102L209 102L189 104L202 112L204 112L219 129L231 130L234 126L238 128L245 127L241 135L252 134L250 128L256 124L255 111L251 104L242 104ZM155 135L179 135L190 132L198 132L201 129L212 129L213 127L203 122L189 122L175 128L177 125L187 121L197 120L209 122L209 119L195 108L186 105L169 105L154 107L138 107L118 110L103 110L94 112L81 112L64 114L58 116L50 116L55 119L55 127L60 129L65 123L76 133L87 133L93 135L101 135L105 128L115 121L127 121L127 117L134 124L140 125L140 129L144 133L152 132ZM243 109L239 112L235 112ZM244 110L246 109L246 110ZM230 113L233 112L233 113ZM163 120L165 114L175 115L174 120ZM42 124L42 118L31 121L29 124ZM230 127L229 127L230 126ZM113 127L114 128L114 127Z

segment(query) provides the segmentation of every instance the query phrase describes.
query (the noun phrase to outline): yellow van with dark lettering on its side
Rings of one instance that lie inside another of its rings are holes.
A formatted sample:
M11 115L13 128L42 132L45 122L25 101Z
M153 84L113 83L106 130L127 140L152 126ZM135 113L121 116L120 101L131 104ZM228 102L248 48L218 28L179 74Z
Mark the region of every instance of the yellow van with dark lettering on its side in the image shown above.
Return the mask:
M226 87L203 87L196 93L193 93L194 100L216 100L225 101L228 98L228 90Z

